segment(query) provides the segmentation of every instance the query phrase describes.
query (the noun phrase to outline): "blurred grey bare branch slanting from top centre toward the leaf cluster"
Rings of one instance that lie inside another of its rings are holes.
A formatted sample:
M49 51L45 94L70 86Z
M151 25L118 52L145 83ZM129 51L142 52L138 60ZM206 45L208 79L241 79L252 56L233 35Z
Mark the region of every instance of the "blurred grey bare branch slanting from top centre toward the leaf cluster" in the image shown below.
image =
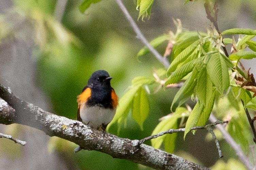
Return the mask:
M134 30L134 32L137 34L137 38L139 38L142 43L148 48L148 50L154 54L154 56L158 59L158 61L160 61L166 68L169 67L170 63L168 61L168 59L166 57L162 57L154 48L153 46L150 45L150 43L146 40L146 38L144 37L144 35L142 34L142 32L140 31L138 25L135 23L135 21L132 19L131 15L129 14L129 12L127 11L125 5L123 4L123 2L121 0L115 0L116 3L118 4L118 6L120 7L120 9L123 11L123 13L125 14L125 17L127 18L127 20L130 22L132 29Z

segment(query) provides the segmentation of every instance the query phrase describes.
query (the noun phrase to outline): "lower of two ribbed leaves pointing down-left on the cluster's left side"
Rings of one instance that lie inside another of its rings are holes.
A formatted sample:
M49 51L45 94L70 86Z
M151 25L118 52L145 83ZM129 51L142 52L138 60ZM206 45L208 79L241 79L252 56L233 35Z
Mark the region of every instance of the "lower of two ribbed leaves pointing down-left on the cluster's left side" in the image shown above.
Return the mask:
M165 85L179 82L184 76L186 76L193 70L195 64L197 64L198 62L202 62L202 58L194 59L182 65L175 72L173 72L173 74L171 74L171 76L166 80Z

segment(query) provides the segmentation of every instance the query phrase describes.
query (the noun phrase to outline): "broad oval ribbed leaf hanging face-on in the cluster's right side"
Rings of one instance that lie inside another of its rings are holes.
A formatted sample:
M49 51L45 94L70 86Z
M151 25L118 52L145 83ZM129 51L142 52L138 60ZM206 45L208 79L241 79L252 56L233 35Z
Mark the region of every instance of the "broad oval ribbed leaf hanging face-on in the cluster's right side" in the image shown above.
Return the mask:
M221 93L229 87L229 74L223 57L220 53L211 54L206 66L207 74Z

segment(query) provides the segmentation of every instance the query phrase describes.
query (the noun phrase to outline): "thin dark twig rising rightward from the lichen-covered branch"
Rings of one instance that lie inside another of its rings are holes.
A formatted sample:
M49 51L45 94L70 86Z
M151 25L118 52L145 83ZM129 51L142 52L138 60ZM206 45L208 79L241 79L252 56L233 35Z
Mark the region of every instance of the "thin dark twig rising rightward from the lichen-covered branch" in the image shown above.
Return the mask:
M206 129L207 126L215 126L215 125L218 125L218 124L227 124L227 123L228 123L228 121L217 121L216 120L212 124L209 124L209 125L206 125L206 126L193 127L193 128L191 128L191 130ZM157 138L157 137L165 135L165 134L172 134L172 133L178 133L178 132L185 132L185 128L169 129L167 131L160 132L158 134L145 137L145 138L139 140L138 145L143 144L147 140L154 139L154 138Z

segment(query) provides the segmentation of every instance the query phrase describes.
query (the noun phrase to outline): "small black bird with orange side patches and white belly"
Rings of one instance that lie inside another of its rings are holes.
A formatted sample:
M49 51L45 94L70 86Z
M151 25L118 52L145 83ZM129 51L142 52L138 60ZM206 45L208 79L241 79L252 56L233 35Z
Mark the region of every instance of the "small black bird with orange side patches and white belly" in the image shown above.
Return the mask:
M95 71L77 96L77 120L104 133L118 105L118 97L110 84L112 78L105 70Z

